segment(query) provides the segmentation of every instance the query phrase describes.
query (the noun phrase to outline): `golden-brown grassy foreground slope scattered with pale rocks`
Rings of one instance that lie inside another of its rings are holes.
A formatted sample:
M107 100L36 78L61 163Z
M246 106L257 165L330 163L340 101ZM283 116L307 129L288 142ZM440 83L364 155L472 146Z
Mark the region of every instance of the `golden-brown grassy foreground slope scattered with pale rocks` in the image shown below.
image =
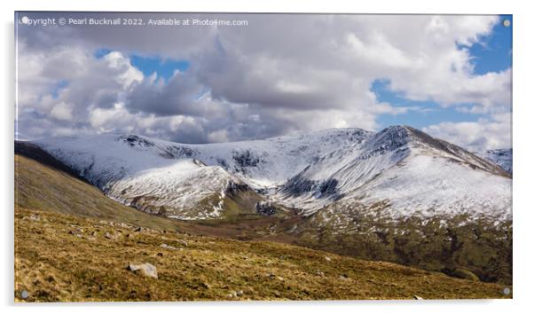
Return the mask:
M503 286L273 242L15 211L15 299L28 302L503 298ZM161 245L169 247L161 247ZM158 279L127 270L152 263Z

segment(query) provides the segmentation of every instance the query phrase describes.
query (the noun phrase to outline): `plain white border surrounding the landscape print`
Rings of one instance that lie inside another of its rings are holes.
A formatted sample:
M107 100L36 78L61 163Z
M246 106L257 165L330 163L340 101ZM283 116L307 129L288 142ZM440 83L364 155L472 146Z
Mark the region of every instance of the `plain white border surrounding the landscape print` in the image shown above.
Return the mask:
M35 313L93 313L94 311L116 311L119 308L129 313L146 312L195 312L195 313L272 313L273 311L292 312L322 312L330 311L358 311L378 313L511 313L529 311L532 304L531 287L534 284L531 263L532 240L534 235L532 225L531 190L534 187L532 173L532 146L534 132L530 122L532 116L531 101L532 79L530 71L534 51L531 31L534 27L534 12L529 10L527 1L466 1L447 0L436 1L361 1L349 2L341 0L308 0L281 1L270 0L254 2L246 0L208 0L208 1L109 1L92 0L61 1L2 1L0 15L2 16L2 104L3 119L1 143L3 153L1 200L4 200L2 243L3 257L0 259L3 283L0 286L2 306L5 312L35 312ZM14 117L14 44L13 44L13 15L14 11L161 11L161 12L354 12L354 13L472 13L472 14L514 14L514 300L507 301L470 301L470 302L186 302L186 303L77 303L77 304L43 304L35 306L13 305L13 117ZM530 97L529 97L530 96ZM531 310L531 309L530 309Z

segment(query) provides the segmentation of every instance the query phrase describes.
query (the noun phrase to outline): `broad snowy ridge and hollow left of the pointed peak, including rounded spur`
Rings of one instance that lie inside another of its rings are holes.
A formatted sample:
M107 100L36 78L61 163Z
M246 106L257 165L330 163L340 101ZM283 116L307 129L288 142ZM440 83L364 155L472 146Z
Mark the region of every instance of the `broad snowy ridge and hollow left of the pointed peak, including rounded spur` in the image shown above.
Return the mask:
M106 134L34 143L114 200L152 213L201 219L221 216L229 189L283 184L323 153L360 143L371 134L358 129L324 130L210 145Z

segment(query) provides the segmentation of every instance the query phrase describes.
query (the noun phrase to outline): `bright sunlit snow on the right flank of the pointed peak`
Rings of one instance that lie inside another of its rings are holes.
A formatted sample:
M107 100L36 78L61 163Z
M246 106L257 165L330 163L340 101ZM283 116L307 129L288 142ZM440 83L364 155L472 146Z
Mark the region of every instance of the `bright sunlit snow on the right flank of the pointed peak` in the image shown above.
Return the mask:
M483 215L510 219L512 180L466 169L457 161L414 149L352 197L365 205L386 201L388 216Z

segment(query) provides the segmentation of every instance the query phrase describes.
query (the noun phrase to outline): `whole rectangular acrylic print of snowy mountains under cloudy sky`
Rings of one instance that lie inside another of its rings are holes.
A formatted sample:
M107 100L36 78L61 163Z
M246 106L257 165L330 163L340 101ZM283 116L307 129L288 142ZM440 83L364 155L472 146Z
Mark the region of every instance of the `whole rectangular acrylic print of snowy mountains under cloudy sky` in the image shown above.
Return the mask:
M15 302L511 298L512 27L15 12Z

